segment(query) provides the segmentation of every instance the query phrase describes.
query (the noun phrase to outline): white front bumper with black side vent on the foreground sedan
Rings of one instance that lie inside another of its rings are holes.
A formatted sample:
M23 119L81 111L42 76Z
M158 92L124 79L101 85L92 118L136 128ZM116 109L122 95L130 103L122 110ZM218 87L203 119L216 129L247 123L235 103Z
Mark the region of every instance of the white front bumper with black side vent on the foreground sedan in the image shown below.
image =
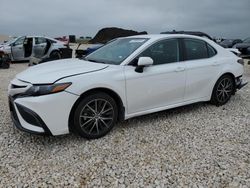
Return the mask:
M69 114L77 95L60 92L36 97L9 97L14 125L33 134L61 135L69 133Z

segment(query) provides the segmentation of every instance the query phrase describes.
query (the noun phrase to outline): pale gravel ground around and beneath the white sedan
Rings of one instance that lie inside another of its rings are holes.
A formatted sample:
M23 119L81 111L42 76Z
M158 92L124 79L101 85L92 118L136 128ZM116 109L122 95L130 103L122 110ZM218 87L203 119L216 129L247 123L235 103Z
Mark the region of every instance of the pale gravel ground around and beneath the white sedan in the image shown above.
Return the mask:
M26 68L0 70L0 187L250 187L250 84L224 106L133 118L88 141L13 129L7 85Z

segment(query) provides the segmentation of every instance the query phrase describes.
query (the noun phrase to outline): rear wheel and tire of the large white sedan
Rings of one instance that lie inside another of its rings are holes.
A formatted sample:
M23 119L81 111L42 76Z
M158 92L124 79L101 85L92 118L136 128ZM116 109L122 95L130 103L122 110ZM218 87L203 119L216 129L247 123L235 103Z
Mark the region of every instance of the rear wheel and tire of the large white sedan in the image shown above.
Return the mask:
M216 82L210 102L216 106L226 104L235 91L235 84L232 76L226 74Z

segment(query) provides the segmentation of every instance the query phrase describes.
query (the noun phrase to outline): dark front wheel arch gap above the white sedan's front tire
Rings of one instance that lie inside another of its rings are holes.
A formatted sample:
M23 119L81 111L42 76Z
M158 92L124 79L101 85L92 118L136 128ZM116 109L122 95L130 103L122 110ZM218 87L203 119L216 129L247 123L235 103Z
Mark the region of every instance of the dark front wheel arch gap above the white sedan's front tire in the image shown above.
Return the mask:
M93 93L96 93L96 92L103 92L103 93L106 93L109 96L111 96L117 104L118 121L122 121L125 119L125 107L124 107L123 101L122 101L121 97L115 91L108 89L108 88L103 88L103 87L93 88L93 89L89 89L89 90L85 91L84 93L82 93L80 95L80 97L76 100L76 102L74 103L73 107L71 108L69 120L68 120L68 126L69 126L70 132L74 131L74 129L73 129L73 117L74 117L74 112L77 108L77 105L80 103L80 101L84 97L91 95Z

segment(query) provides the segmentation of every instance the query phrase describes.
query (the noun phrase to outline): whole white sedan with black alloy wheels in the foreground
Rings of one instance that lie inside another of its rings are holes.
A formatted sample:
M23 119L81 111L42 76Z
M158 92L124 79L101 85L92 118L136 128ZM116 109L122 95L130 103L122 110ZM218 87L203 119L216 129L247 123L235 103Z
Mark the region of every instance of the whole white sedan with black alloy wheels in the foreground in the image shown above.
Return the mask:
M31 67L9 85L10 112L23 131L93 139L119 120L201 101L223 105L246 83L243 60L209 39L118 38L84 59Z

